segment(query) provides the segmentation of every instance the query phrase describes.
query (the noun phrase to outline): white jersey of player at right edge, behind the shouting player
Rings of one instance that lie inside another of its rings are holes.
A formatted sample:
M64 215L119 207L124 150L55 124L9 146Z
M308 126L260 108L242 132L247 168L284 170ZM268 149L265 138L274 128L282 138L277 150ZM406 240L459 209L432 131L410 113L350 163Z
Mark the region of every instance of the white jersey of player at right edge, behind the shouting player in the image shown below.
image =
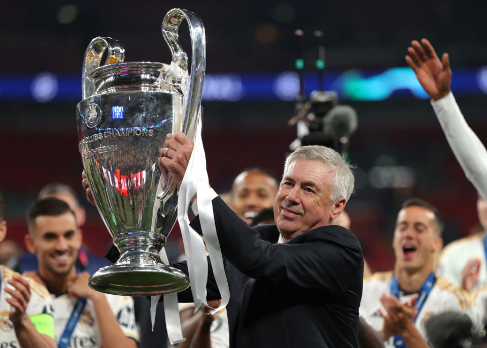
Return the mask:
M478 283L472 289L475 291L487 284L487 264L485 262L485 248L483 247L484 232L452 241L443 248L437 273L457 287L462 286L462 270L470 259L480 259Z

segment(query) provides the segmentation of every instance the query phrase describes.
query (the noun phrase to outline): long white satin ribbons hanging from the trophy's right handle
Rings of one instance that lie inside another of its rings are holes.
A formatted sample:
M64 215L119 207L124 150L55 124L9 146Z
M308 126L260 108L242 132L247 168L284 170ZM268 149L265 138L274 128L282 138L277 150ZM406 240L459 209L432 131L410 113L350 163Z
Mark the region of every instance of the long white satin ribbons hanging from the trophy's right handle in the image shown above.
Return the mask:
M169 69L164 75L166 78L176 77L181 79L181 90L184 95L183 105L186 105L189 93L188 74L177 64L171 62ZM195 129L193 153L191 154L178 194L178 221L187 258L195 312L200 308L201 304L207 305L206 281L208 277L208 263L205 250L206 243L215 280L222 298L221 305L218 308L212 309L211 314L214 314L228 304L230 291L225 276L223 256L215 227L212 199L216 196L216 193L210 188L208 174L206 172L206 158L201 138L201 112L199 112L198 117L195 119L195 123L193 128ZM188 134L188 136L191 138L191 134ZM191 199L195 194L196 207L205 243L200 235L190 226L187 214L191 205ZM163 262L167 262L164 248L162 248L159 255ZM159 298L160 296L152 296L151 298L151 320L153 327L156 305ZM164 295L164 314L167 334L171 344L184 341L185 339L181 332L177 294Z

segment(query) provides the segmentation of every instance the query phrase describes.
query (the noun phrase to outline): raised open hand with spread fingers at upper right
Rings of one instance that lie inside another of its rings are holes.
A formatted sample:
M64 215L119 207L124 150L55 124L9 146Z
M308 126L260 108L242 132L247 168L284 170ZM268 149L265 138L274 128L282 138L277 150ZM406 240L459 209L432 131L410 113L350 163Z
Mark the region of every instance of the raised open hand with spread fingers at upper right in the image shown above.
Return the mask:
M411 46L407 48L409 55L405 57L406 63L416 74L425 92L436 101L450 92L451 69L448 53L443 53L440 61L428 40L421 39L421 44L416 40L411 41Z

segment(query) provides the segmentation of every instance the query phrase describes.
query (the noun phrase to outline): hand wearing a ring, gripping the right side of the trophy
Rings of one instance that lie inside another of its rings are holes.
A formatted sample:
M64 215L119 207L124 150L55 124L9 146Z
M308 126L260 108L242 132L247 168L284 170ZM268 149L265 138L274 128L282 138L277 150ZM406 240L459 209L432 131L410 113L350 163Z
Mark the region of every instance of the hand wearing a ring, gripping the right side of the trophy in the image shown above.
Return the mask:
M164 175L169 172L176 184L183 181L193 147L186 134L178 132L176 135L167 134L164 147L159 151L159 167Z

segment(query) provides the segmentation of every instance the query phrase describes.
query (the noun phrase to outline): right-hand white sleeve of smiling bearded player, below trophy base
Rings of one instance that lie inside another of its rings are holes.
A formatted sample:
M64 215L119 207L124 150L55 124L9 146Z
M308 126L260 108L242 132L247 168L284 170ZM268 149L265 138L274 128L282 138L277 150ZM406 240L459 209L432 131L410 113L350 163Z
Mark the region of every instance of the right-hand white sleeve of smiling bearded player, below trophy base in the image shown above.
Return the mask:
M137 326L135 325L133 299L130 296L109 294L106 294L106 296L123 334L138 342L140 340L140 336L138 334Z

